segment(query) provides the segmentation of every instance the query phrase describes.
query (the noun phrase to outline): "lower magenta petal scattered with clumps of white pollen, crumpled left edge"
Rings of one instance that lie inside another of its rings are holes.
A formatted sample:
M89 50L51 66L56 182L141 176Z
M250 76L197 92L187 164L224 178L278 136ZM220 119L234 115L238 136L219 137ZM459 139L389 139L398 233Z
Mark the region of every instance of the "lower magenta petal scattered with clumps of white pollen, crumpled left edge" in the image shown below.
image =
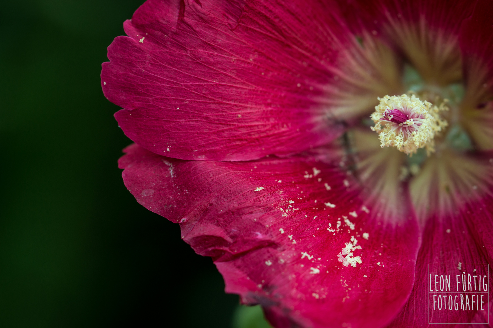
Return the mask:
M226 292L262 304L276 327L382 327L407 300L416 220L381 218L337 167L312 156L207 162L125 151L119 165L138 202L179 223Z

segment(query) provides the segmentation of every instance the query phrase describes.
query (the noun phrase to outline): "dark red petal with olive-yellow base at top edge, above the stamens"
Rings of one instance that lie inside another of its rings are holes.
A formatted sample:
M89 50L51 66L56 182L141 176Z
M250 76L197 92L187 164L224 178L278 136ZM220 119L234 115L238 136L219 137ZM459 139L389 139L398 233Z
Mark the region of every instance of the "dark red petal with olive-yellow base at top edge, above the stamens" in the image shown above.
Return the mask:
M387 39L427 83L446 86L461 79L458 38L474 1L454 1L453 5L428 0L340 2L353 30L372 31Z

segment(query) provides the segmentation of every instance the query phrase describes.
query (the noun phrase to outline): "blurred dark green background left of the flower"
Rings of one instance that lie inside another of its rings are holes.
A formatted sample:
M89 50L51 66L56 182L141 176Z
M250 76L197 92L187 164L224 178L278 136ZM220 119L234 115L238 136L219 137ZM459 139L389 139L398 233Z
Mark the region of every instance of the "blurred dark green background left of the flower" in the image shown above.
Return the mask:
M106 47L143 0L0 6L0 327L230 327L238 297L117 168Z

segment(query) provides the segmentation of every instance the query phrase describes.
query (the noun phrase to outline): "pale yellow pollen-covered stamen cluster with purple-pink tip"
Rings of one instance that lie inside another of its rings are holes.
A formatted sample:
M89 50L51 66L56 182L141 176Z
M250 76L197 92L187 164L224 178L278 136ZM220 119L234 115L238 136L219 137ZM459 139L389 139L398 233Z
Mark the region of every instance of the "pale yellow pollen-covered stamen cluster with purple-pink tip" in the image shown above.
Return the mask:
M439 115L449 109L446 101L437 107L414 94L386 95L378 100L380 104L370 115L375 126L370 128L379 133L382 148L392 146L406 154L419 148L425 148L428 155L435 151L435 135L448 124Z

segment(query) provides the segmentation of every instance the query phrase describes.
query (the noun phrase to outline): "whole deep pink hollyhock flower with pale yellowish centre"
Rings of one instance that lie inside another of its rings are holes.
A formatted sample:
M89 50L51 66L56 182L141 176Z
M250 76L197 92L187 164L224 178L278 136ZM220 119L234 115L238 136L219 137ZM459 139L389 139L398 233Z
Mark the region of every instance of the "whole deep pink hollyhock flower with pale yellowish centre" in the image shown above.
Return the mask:
M148 0L101 74L125 185L275 327L427 326L428 264L492 260L492 15Z

